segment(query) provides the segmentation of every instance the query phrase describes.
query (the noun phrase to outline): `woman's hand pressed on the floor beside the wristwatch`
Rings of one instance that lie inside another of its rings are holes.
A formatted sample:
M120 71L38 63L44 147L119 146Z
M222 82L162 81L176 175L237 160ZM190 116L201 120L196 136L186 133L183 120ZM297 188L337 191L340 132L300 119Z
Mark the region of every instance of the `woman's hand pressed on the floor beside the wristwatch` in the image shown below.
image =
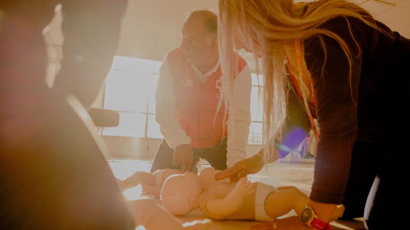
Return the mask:
M288 217L285 219L263 222L250 227L251 230L315 230L305 226L299 217Z

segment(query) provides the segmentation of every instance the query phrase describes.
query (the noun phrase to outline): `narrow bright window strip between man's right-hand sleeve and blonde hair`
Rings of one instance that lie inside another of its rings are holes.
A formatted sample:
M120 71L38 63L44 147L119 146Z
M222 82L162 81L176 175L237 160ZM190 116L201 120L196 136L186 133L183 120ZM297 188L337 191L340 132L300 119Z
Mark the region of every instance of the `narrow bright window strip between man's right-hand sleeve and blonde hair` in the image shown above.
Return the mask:
M262 76L252 73L252 90L250 92L250 126L248 144L261 145L263 138L263 103L259 97L262 93Z

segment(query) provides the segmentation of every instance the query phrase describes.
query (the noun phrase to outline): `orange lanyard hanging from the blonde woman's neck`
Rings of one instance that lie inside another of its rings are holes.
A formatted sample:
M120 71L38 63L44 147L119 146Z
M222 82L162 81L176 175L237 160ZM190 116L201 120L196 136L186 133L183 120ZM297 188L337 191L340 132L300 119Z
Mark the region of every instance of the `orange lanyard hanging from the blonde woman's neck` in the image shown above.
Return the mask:
M301 54L301 42L300 42L300 39L295 39L295 49L296 49L296 67L298 68L298 75L299 75L298 77L299 77L299 81L300 81L300 82L303 82L303 80L302 80L302 73L303 73L303 71L302 71L302 54ZM312 78L311 78L311 87L312 87L312 93L314 94L315 92L314 92L314 90L313 90ZM307 114L308 114L308 116L309 116L309 120L310 120L310 123L311 123L311 125L312 125L313 133L314 133L315 138L316 138L315 146L314 146L314 152L315 152L315 154L316 154L317 143L318 143L318 141L319 141L319 131L318 131L318 127L316 126L315 121L314 121L313 116L312 116L312 113L311 113L311 111L310 111L309 104L308 104L308 99L307 99L307 97L306 97L305 90L302 89L302 86L299 87L299 88L300 88L300 91L302 92L303 102L304 102L304 104L305 104L305 109L306 109L306 112L307 112Z

